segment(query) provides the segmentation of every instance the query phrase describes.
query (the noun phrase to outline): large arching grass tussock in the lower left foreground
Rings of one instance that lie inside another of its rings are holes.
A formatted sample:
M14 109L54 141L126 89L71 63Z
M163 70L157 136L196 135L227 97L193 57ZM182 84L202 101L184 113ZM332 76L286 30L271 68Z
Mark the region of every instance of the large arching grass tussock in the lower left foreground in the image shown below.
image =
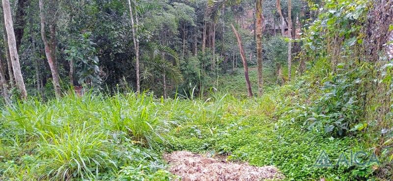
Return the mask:
M69 127L60 134L45 131L41 136L38 154L43 160L37 165L41 179L92 179L99 171L116 166L110 158L111 144L105 131Z

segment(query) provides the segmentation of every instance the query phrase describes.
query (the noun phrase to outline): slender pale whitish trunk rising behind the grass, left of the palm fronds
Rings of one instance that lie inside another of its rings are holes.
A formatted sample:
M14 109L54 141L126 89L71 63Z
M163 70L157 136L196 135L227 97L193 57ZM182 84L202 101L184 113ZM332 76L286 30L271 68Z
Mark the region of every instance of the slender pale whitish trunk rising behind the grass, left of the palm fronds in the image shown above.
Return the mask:
M134 0L134 4L136 6L136 1ZM135 59L136 59L136 70L137 70L137 92L140 92L140 75L139 75L139 40L136 36L138 29L135 27L134 24L134 14L133 14L133 10L132 10L132 6L131 6L131 0L128 0L128 6L130 8L130 16L131 16L131 29L132 29L132 38L134 41L134 47L135 47ZM137 12L135 12L137 13ZM138 16L135 17L136 18L136 23L138 25Z

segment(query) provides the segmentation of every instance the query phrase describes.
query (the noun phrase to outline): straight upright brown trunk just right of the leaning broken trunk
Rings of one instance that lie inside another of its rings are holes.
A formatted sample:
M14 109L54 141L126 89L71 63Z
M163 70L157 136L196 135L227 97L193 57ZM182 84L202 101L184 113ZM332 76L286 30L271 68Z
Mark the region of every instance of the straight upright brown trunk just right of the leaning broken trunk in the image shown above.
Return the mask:
M259 96L263 94L263 62L262 62L262 0L256 0L256 64L258 71Z

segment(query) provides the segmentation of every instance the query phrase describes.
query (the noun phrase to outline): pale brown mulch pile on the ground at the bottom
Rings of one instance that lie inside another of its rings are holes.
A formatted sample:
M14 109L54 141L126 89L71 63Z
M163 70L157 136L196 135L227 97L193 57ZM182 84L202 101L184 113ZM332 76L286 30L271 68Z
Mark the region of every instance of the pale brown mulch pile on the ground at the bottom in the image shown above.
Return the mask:
M164 155L169 171L182 181L261 181L283 178L273 166L255 167L248 164L226 162L191 152L173 152Z

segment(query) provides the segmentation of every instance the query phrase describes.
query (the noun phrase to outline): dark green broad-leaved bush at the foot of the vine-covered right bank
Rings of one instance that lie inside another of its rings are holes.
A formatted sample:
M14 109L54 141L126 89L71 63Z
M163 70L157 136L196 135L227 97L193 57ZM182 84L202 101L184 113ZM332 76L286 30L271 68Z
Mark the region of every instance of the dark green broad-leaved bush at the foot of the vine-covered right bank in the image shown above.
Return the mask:
M306 117L304 125L308 129L318 129L330 135L343 136L356 133L367 127L363 123L364 100L360 95L364 92L367 79L367 66L344 69L345 64L337 66L338 73L331 73L325 78L323 94L310 107L303 107Z

